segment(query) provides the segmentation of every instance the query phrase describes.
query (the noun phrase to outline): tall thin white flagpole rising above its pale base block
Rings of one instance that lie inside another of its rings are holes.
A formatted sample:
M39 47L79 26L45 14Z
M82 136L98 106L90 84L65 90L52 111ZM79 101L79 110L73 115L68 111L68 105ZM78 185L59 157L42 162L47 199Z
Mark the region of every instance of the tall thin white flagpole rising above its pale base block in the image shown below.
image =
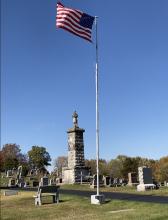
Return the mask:
M98 31L97 19L95 16L96 26L96 167L97 167L97 196L99 196L99 71L98 71Z

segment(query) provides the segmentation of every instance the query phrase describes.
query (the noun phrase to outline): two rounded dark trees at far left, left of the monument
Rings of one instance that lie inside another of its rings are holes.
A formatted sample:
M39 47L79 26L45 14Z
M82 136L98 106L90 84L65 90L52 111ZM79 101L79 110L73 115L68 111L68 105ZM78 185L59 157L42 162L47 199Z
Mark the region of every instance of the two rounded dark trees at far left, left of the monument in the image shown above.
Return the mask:
M23 175L26 176L30 169L37 169L41 173L47 172L51 157L45 147L32 146L27 154L21 153L17 144L5 144L0 151L0 171L17 169L22 165Z

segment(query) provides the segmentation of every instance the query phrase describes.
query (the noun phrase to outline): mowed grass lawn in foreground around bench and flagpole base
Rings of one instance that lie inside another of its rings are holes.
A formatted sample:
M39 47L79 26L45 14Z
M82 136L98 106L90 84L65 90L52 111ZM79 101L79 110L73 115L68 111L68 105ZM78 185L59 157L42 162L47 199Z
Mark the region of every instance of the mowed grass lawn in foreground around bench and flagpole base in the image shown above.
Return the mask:
M118 189L119 190L119 189ZM162 194L155 191L154 194ZM103 205L91 205L90 198L60 195L60 203L53 204L50 197L42 206L34 205L35 192L20 191L18 195L3 196L1 192L1 219L39 220L168 220L168 204L110 200ZM165 193L167 194L167 189Z

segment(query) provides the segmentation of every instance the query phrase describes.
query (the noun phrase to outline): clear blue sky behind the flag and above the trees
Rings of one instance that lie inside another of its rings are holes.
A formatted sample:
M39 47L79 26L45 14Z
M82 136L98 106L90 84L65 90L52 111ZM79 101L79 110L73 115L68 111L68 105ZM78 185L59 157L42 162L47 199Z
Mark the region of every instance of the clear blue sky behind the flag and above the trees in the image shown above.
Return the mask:
M168 1L62 3L99 16L100 157L168 155ZM1 146L66 156L76 110L95 158L95 44L56 29L55 8L1 0Z

